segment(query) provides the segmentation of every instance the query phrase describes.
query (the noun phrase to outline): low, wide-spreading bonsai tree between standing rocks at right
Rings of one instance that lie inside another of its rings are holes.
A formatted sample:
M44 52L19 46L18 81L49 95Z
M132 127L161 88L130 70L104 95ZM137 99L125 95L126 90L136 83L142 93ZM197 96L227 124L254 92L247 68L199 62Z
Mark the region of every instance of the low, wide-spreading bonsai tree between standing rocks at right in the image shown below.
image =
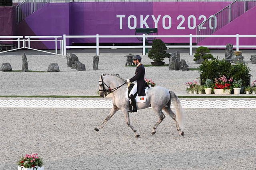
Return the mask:
M196 64L200 64L204 60L208 61L208 59L216 59L212 56L212 54L210 54L210 50L207 47L198 47L196 49L196 54L194 55L194 57L194 61L196 61Z

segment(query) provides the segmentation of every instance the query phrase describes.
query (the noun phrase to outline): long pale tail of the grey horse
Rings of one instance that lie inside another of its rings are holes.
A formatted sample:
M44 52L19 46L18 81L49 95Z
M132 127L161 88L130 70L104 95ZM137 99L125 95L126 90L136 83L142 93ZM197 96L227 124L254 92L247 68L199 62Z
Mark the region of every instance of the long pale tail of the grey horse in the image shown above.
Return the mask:
M173 106L175 109L176 123L179 125L181 130L184 130L185 114L184 114L184 111L180 104L180 100L179 100L178 96L176 96L176 94L174 94L174 92L169 91L169 93L171 96L170 100L172 100Z

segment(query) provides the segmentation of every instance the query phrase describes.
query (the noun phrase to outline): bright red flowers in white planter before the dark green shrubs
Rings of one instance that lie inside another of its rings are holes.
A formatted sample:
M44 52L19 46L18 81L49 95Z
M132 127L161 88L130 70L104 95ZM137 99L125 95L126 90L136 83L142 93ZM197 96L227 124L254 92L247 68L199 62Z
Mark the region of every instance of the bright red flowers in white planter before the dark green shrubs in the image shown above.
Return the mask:
M218 79L214 79L214 94L230 94L231 83L233 78L226 78L222 75Z

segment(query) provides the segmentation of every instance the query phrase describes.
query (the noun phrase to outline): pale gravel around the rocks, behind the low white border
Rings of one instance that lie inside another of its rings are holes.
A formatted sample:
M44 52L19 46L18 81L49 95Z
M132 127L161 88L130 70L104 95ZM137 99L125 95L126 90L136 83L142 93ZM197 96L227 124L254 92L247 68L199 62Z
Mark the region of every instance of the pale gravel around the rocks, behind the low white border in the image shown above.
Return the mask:
M81 95L96 96L98 92L98 80L102 73L120 74L123 78L134 76L134 67L125 66L127 54L100 55L99 70L93 70L92 59L94 54L81 54L77 56L80 62L86 66L86 71L77 71L67 67L65 56L54 55L28 55L28 69L47 71L50 63L58 63L60 72L0 72L0 95ZM134 54L136 55L136 54ZM214 57L223 58L224 54L216 53ZM244 55L244 61L252 69L252 78L256 77L256 67L251 64L250 54ZM197 68L192 56L181 53L190 68ZM142 56L143 64L151 64L147 56ZM166 64L168 59L165 59ZM21 56L1 56L1 63L10 63L13 70L22 70ZM186 82L200 77L197 70L175 71L165 67L146 67L146 78L152 78L158 86L166 87L177 95L186 94ZM199 82L199 79L197 79Z

